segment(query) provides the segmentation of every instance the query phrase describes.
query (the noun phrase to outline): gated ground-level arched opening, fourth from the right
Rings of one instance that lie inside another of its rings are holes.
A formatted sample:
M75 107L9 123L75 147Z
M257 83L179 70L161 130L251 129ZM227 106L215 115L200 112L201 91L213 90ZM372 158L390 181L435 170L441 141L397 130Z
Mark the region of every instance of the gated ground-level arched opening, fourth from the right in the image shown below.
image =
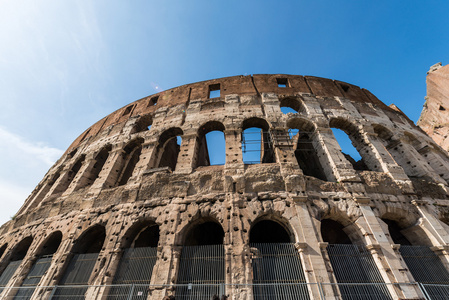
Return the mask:
M214 220L201 219L191 225L184 238L177 283L192 285L178 288L176 299L222 296L218 285L225 281L223 238L223 228Z

